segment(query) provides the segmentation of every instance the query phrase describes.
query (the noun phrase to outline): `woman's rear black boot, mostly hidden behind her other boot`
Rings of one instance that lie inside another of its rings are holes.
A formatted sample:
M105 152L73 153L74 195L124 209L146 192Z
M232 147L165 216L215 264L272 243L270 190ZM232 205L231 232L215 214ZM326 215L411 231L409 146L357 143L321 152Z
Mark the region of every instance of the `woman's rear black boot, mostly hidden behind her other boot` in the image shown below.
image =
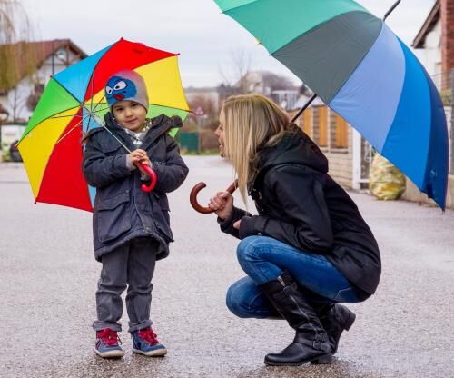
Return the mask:
M356 315L339 303L311 303L319 316L321 325L328 333L331 353L338 351L339 339L343 331L349 331L355 322Z

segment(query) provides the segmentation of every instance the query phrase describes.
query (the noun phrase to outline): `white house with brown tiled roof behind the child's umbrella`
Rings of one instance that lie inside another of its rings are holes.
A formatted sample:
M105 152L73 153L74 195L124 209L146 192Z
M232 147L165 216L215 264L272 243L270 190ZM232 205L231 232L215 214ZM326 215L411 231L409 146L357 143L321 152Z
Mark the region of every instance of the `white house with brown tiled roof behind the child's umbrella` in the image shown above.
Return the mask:
M69 39L0 45L0 53L15 59L15 64L2 73L8 75L8 84L0 88L0 106L8 114L6 122L15 123L28 121L51 75L87 56Z

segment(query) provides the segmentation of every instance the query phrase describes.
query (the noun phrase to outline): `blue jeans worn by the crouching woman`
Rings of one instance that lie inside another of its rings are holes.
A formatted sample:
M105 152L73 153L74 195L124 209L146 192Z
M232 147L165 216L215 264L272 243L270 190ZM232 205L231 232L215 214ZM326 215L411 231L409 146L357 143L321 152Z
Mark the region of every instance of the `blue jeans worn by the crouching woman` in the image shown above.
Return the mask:
M285 269L312 302L360 302L349 281L321 254L311 254L268 236L249 236L237 248L242 270L248 274L227 292L229 310L242 318L275 314L258 285L275 280Z

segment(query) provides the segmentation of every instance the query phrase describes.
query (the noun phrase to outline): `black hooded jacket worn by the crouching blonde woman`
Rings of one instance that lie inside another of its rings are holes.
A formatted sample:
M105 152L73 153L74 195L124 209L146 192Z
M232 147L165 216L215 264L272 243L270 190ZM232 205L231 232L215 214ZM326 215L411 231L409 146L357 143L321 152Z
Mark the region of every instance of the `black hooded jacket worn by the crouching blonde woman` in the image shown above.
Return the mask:
M260 153L249 186L258 215L234 208L221 229L240 239L266 235L323 254L357 289L360 300L380 280L380 251L358 207L328 173L328 161L302 132L286 134ZM240 230L232 224L242 219Z

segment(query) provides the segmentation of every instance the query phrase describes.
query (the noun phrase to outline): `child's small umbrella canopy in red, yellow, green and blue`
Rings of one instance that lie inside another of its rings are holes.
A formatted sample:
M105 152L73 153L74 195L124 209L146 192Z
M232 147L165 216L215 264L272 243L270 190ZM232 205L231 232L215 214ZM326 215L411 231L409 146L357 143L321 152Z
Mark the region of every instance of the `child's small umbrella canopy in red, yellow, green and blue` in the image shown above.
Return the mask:
M148 117L179 115L184 120L189 109L177 59L177 54L122 38L50 79L18 143L35 203L93 210L95 190L82 174L81 140L83 132L104 125L109 109L104 85L114 73L132 69L143 76Z

